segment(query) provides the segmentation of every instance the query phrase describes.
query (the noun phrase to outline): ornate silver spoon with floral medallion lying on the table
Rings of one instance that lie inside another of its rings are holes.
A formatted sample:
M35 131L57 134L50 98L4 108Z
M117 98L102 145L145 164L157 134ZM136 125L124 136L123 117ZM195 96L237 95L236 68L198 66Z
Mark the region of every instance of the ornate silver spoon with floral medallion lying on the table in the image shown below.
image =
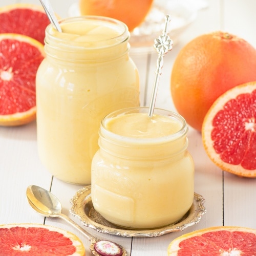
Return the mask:
M30 185L27 188L26 195L30 206L40 215L51 218L58 217L63 220L66 220L73 227L75 227L82 234L84 234L84 236L86 236L91 242L90 250L93 253L93 255L127 255L125 249L122 246L111 241L97 239L96 237L88 233L86 230L82 229L68 216L61 214L62 208L59 200L48 190L41 188L39 186Z

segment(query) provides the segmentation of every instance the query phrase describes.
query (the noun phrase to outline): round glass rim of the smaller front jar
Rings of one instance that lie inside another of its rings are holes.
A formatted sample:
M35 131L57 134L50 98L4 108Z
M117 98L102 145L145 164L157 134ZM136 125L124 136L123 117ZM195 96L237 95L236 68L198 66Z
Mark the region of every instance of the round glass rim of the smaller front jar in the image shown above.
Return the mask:
M169 141L174 141L176 139L179 139L182 136L186 136L186 134L188 133L188 125L186 123L186 120L181 115L179 115L178 113L175 113L173 111L160 109L160 108L155 108L154 113L157 112L156 114L158 114L158 115L164 115L165 114L164 116L173 117L176 120L178 120L181 123L181 128L180 128L179 131L177 131L173 134L169 134L169 135L162 136L162 137L156 137L156 138L134 138L134 137L127 137L127 136L123 136L123 135L118 135L114 132L109 131L106 128L105 124L112 117L116 117L120 114L148 113L148 110L149 110L148 107L140 106L140 107L125 108L125 109L114 111L114 112L106 115L101 120L99 133L103 137L105 137L104 135L106 135L107 137L115 138L115 141L118 140L120 142L128 142L129 144L136 143L136 144L141 144L141 145L168 143ZM161 114L159 112L161 112Z

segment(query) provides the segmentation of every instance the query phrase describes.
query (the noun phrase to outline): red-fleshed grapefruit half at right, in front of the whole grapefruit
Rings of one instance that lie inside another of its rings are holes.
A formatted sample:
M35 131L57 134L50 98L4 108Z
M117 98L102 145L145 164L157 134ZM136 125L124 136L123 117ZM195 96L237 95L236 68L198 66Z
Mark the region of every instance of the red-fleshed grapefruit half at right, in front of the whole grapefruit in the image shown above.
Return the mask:
M212 104L203 121L202 140L217 166L256 177L256 81L228 90Z

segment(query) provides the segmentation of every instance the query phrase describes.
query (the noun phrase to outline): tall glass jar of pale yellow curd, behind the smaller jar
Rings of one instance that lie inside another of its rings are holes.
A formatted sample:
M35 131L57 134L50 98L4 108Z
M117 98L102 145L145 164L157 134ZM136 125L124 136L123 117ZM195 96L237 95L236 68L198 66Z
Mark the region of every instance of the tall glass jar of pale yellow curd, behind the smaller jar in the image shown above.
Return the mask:
M38 153L58 179L91 184L100 121L139 106L139 75L123 23L82 16L60 26L61 33L46 29L46 58L36 75Z

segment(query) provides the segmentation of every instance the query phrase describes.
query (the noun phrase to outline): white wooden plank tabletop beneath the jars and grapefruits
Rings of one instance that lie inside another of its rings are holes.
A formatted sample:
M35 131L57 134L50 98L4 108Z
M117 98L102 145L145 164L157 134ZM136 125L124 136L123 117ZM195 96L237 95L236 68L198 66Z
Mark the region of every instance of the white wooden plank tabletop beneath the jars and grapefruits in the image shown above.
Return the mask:
M0 6L20 2L40 5L39 0L1 0ZM74 3L72 0L51 2L61 17L68 16L68 9ZM208 8L198 12L195 22L181 35L179 42L174 44L172 52L164 58L156 102L159 108L175 111L169 92L170 72L179 50L189 40L206 32L223 30L243 37L256 47L255 0L209 0L208 3ZM139 69L141 87L147 86L150 94L157 56L146 54L132 57ZM146 99L141 97L142 103L148 104L150 95ZM166 255L167 246L173 239L186 232L222 225L256 229L256 179L239 178L222 172L208 159L202 145L201 134L191 128L188 138L189 152L196 166L195 191L206 200L204 205L207 213L198 224L182 232L146 239L123 238L104 235L90 228L87 230L99 238L121 244L129 255L161 256ZM44 223L70 230L80 237L86 246L87 255L91 255L89 242L73 227L60 219L45 219L28 205L26 189L34 184L51 190L60 199L63 213L70 215L70 199L82 187L57 180L42 166L37 154L35 121L20 127L0 127L0 173L0 224ZM79 223L73 216L71 218Z

